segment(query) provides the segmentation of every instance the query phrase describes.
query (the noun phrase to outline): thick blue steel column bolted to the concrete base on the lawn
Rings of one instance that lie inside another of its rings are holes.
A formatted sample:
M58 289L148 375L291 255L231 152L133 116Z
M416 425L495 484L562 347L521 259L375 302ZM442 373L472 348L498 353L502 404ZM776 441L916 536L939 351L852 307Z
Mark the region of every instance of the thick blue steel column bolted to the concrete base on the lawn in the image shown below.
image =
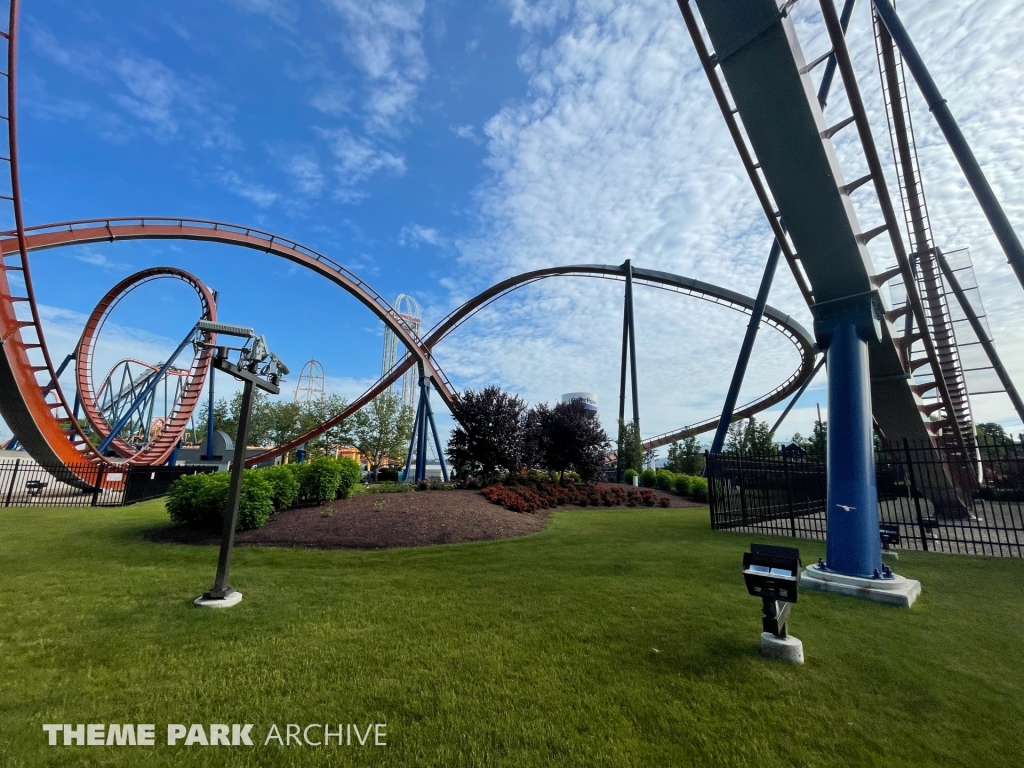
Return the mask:
M828 570L882 572L867 344L881 338L877 291L815 304L814 333L828 356Z

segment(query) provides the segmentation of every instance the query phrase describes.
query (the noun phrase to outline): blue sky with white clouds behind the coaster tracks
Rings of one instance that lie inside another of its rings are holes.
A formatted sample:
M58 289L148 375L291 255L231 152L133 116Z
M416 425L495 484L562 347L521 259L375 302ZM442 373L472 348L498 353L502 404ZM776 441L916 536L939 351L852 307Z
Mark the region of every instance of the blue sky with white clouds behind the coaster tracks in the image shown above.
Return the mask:
M798 5L808 57L822 48ZM888 151L866 3L850 44ZM1001 0L900 3L1011 218L1024 227L1024 9ZM984 45L977 41L984 40ZM260 227L314 248L384 296L413 294L430 326L469 295L556 263L620 263L753 294L768 227L670 0L27 0L19 128L27 221L175 215ZM913 96L916 98L915 94ZM843 99L829 103L842 115ZM1020 287L927 110L915 129L937 241L970 246L996 343L1024 381ZM838 122L838 121L834 121ZM841 158L853 148L840 138ZM852 174L851 174L852 175ZM871 222L865 211L862 221ZM878 265L885 265L879 254ZM221 317L255 326L295 370L321 359L353 396L379 374L382 329L340 289L252 251L120 243L32 257L50 348L128 273L172 264L221 293ZM437 350L460 386L531 401L593 390L607 427L622 289L548 282L460 329ZM654 434L720 408L744 319L638 292L641 417ZM809 327L783 270L771 303ZM144 289L106 341L159 359L193 322L179 289ZM797 356L761 335L741 399ZM808 431L816 384L783 428ZM1019 426L1000 396L980 420ZM771 418L771 417L769 417Z

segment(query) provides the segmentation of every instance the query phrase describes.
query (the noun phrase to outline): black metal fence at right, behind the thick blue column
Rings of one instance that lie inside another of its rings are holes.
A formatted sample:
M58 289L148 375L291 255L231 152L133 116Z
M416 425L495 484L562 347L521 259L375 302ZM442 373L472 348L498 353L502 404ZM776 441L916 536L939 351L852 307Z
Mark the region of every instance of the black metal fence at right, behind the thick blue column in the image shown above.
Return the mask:
M879 517L900 547L1024 557L1024 446L983 443L965 455L907 441L876 452ZM825 538L823 458L711 454L715 529Z

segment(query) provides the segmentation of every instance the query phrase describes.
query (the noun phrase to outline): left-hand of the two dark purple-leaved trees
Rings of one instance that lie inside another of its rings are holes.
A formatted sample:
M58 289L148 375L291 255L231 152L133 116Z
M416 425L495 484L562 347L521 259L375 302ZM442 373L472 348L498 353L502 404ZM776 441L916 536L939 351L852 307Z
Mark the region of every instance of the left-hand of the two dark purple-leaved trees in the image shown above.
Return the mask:
M518 472L523 466L525 412L519 395L495 386L463 392L452 406L458 423L447 443L452 466L460 474L482 477Z

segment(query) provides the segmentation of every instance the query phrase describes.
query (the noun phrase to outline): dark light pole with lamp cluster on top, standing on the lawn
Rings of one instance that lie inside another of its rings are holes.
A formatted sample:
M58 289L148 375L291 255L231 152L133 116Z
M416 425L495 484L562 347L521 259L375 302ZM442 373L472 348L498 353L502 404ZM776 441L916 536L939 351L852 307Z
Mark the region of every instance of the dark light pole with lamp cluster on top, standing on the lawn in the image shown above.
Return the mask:
M195 604L203 608L228 608L242 601L242 593L231 587L228 577L231 570L231 552L234 549L234 526L239 519L239 501L242 498L242 476L246 466L246 442L252 417L253 394L257 387L270 394L281 392L281 377L288 374L288 367L266 348L266 341L262 336L256 336L251 328L207 321L200 321L200 325L202 331L251 339L246 347L217 345L217 354L213 359L216 370L230 374L243 382L242 408L239 413L239 432L234 439L234 456L231 458L231 482L224 510L217 577L213 587L203 593L202 597L196 598ZM228 353L231 350L239 352L238 362L229 359Z

